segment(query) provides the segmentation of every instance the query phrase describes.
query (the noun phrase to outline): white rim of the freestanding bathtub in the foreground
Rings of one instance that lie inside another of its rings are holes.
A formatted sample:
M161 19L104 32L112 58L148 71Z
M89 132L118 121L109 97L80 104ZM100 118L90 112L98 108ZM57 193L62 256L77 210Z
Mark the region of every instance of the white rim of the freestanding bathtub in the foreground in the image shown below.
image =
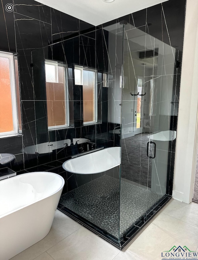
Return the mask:
M3 180L0 181L0 183L1 183L1 182L5 182L5 181L9 181L9 179L13 180L12 178L17 178L17 177L19 178L19 177L21 177L21 176L23 176L23 175L33 174L33 173L41 173L41 174L42 174L42 173L49 173L49 174L53 174L53 175L58 175L58 176L60 177L60 179L62 180L62 184L61 184L61 186L60 186L55 192L50 193L50 194L48 194L47 196L44 196L44 197L42 197L41 199L38 199L38 200L36 200L36 201L34 201L34 202L32 202L32 203L25 204L24 206L21 206L21 207L15 209L15 210L12 210L12 211L9 211L9 212L7 212L7 213L5 213L5 214L2 214L2 215L0 215L0 219L3 218L3 217L6 217L7 215L10 215L10 214L12 214L12 213L18 211L18 210L21 210L21 209L23 209L23 208L25 208L25 207L28 207L28 206L30 206L30 205L32 205L32 204L34 204L34 203L37 203L38 201L41 201L41 200L46 199L46 198L48 198L48 197L50 197L50 196L53 196L54 194L58 193L58 192L63 188L63 186L64 186L64 184L65 184L65 180L62 178L61 175L59 175L59 174L57 174L57 173L54 173L54 172L49 172L49 171L32 171L32 172L27 172L27 173L23 173L23 174L20 174L20 175L16 175L16 176L13 176L13 177L10 177L10 178L3 179Z

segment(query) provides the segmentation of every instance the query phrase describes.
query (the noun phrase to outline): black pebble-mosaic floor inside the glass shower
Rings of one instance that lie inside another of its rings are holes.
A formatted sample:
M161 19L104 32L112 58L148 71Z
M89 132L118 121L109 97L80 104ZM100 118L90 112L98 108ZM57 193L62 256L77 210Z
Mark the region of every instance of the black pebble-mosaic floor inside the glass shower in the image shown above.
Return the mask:
M121 181L120 234L129 229L161 197L150 190ZM118 238L118 179L103 175L63 194L60 203Z

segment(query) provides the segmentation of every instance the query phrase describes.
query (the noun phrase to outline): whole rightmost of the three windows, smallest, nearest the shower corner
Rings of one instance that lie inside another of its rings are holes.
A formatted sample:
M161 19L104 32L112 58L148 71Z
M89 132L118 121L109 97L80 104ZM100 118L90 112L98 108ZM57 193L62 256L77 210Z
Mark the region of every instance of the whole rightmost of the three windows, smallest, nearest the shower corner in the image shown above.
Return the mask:
M75 65L75 85L83 86L83 123L97 122L97 70Z

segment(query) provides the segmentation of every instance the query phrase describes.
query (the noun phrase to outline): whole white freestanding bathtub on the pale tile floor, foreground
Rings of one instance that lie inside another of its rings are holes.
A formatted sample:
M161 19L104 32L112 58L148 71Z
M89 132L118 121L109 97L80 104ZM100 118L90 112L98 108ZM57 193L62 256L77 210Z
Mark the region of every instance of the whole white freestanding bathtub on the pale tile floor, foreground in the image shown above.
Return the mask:
M64 179L31 172L0 181L0 259L8 260L43 239L51 228Z

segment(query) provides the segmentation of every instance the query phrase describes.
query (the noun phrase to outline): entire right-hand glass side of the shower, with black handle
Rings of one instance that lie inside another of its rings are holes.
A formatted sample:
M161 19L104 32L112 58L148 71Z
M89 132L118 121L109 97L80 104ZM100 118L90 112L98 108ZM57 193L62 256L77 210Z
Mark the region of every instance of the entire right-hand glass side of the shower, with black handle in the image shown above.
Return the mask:
M129 24L124 30L123 57L123 77L129 87L122 88L120 239L131 227L135 231L142 227L171 189L177 80L177 51ZM138 95L140 125L134 118L137 110L129 110L138 108ZM127 124L133 124L128 134L123 131Z

